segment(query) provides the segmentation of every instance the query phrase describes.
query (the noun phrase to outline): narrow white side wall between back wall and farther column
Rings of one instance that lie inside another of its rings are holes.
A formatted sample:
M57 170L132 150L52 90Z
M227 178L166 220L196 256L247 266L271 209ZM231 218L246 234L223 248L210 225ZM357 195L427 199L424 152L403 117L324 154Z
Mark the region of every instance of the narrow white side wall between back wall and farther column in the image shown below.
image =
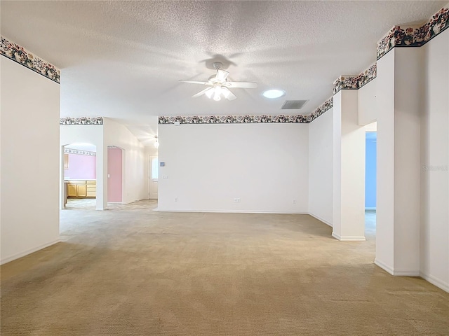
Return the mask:
M333 109L309 124L309 214L332 226Z

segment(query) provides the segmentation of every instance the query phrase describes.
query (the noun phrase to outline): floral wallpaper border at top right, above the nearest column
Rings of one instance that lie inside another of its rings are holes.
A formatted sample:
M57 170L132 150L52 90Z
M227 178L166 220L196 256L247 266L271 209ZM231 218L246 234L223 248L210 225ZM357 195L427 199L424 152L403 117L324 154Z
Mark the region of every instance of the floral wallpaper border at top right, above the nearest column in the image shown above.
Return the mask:
M422 26L394 26L377 42L377 59L395 47L420 47L449 27L449 6L446 5Z

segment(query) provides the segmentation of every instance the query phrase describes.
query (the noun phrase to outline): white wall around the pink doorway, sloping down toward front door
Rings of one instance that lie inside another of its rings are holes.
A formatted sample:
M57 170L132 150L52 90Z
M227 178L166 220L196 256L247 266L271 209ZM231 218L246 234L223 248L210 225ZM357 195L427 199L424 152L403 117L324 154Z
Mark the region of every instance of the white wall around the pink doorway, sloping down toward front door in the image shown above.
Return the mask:
M147 151L126 128L110 118L103 118L105 148L117 146L125 151L122 203L148 198ZM107 173L106 179L107 179ZM107 181L106 181L107 184Z

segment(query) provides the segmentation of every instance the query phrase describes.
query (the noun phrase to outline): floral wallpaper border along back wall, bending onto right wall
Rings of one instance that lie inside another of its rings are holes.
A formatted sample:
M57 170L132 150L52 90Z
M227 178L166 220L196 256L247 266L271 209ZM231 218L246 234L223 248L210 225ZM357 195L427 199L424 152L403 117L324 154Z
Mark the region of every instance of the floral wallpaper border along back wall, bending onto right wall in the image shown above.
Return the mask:
M159 116L159 125L180 124L307 124L333 107L333 97L310 115L296 116Z

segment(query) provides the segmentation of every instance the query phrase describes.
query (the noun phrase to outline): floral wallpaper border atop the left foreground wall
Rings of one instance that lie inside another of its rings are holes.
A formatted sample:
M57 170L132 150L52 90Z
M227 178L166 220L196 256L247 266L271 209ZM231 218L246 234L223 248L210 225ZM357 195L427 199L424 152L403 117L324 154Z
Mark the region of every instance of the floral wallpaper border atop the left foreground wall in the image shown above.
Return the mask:
M0 36L0 54L58 84L60 83L59 69L45 62L43 59L36 57L36 55L33 55L20 45L8 41L4 36Z

